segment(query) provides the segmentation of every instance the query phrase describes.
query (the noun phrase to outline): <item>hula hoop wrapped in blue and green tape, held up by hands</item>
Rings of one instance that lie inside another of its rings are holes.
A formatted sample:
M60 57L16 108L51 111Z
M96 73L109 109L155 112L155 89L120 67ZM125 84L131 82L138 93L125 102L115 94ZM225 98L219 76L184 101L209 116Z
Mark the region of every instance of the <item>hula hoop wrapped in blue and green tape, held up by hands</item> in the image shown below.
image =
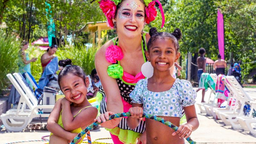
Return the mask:
M123 117L123 116L131 116L130 112L126 112L126 113L117 113L117 114L114 114L114 115L111 115L109 116L109 120L112 120L114 118L119 118L119 117ZM154 115L150 115L150 114L142 114L142 117L145 117L145 118L149 118L149 119L153 119L155 121L158 121L158 122L161 122L167 126L169 126L170 128L172 128L174 131L177 131L178 130L178 126L172 124L171 122L169 121L165 121L163 118L161 117L157 117L157 116L154 116ZM90 124L89 126L87 126L84 130L82 130L82 132L78 133L76 135L76 137L74 138L74 140L72 140L69 144L75 144L77 142L77 140L79 140L84 134L86 134L88 131L90 131L91 129L93 129L93 127L99 125L101 123L99 122L94 122L92 124ZM190 144L196 144L195 141L193 141L190 137L188 137L186 139Z

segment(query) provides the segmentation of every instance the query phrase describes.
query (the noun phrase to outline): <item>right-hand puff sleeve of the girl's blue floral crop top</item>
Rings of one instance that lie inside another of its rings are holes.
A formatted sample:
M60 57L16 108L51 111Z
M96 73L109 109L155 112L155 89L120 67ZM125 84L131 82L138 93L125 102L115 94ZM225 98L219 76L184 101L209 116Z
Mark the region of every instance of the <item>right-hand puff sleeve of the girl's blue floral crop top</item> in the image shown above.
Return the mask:
M189 81L180 80L177 88L182 107L188 107L196 103L196 91L193 89L193 86Z

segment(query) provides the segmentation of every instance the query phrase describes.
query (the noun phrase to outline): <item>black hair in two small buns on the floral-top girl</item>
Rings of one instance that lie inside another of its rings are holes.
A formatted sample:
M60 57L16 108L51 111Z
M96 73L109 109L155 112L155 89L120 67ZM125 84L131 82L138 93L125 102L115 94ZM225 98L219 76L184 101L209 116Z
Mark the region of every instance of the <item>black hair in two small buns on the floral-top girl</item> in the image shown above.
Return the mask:
M173 33L167 33L167 32L157 32L156 28L150 28L149 30L150 38L148 40L148 51L152 47L154 41L156 39L164 39L164 38L170 38L174 44L174 47L176 49L176 52L178 52L180 46L179 46L179 39L181 38L181 31L179 28L176 28Z

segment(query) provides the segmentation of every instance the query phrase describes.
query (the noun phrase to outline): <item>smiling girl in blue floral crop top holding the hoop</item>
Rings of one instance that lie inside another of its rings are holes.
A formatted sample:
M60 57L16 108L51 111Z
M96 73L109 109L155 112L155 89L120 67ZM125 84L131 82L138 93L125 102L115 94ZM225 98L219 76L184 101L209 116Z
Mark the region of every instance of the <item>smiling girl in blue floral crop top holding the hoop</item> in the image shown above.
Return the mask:
M194 106L196 92L191 83L175 79L170 73L171 66L180 57L178 40L181 32L178 28L172 34L150 28L149 35L146 57L154 73L150 78L141 79L130 93L133 104L129 112L132 117L128 117L127 124L131 129L136 128L143 119L142 113L161 116L179 129L175 132L164 124L146 119L147 143L184 144L184 138L198 128L199 122ZM187 123L180 125L182 108Z

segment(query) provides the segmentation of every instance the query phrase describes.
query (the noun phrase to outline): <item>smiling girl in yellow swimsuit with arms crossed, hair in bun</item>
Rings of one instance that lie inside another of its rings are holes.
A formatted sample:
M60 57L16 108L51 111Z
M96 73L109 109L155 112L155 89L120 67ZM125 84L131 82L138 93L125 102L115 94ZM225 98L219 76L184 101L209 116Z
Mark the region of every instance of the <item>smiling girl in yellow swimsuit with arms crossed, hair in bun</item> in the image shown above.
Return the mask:
M86 98L88 77L82 68L71 62L70 59L59 61L63 69L59 73L58 84L65 98L56 102L47 121L47 129L51 132L50 144L69 143L98 114L97 108L92 107Z

